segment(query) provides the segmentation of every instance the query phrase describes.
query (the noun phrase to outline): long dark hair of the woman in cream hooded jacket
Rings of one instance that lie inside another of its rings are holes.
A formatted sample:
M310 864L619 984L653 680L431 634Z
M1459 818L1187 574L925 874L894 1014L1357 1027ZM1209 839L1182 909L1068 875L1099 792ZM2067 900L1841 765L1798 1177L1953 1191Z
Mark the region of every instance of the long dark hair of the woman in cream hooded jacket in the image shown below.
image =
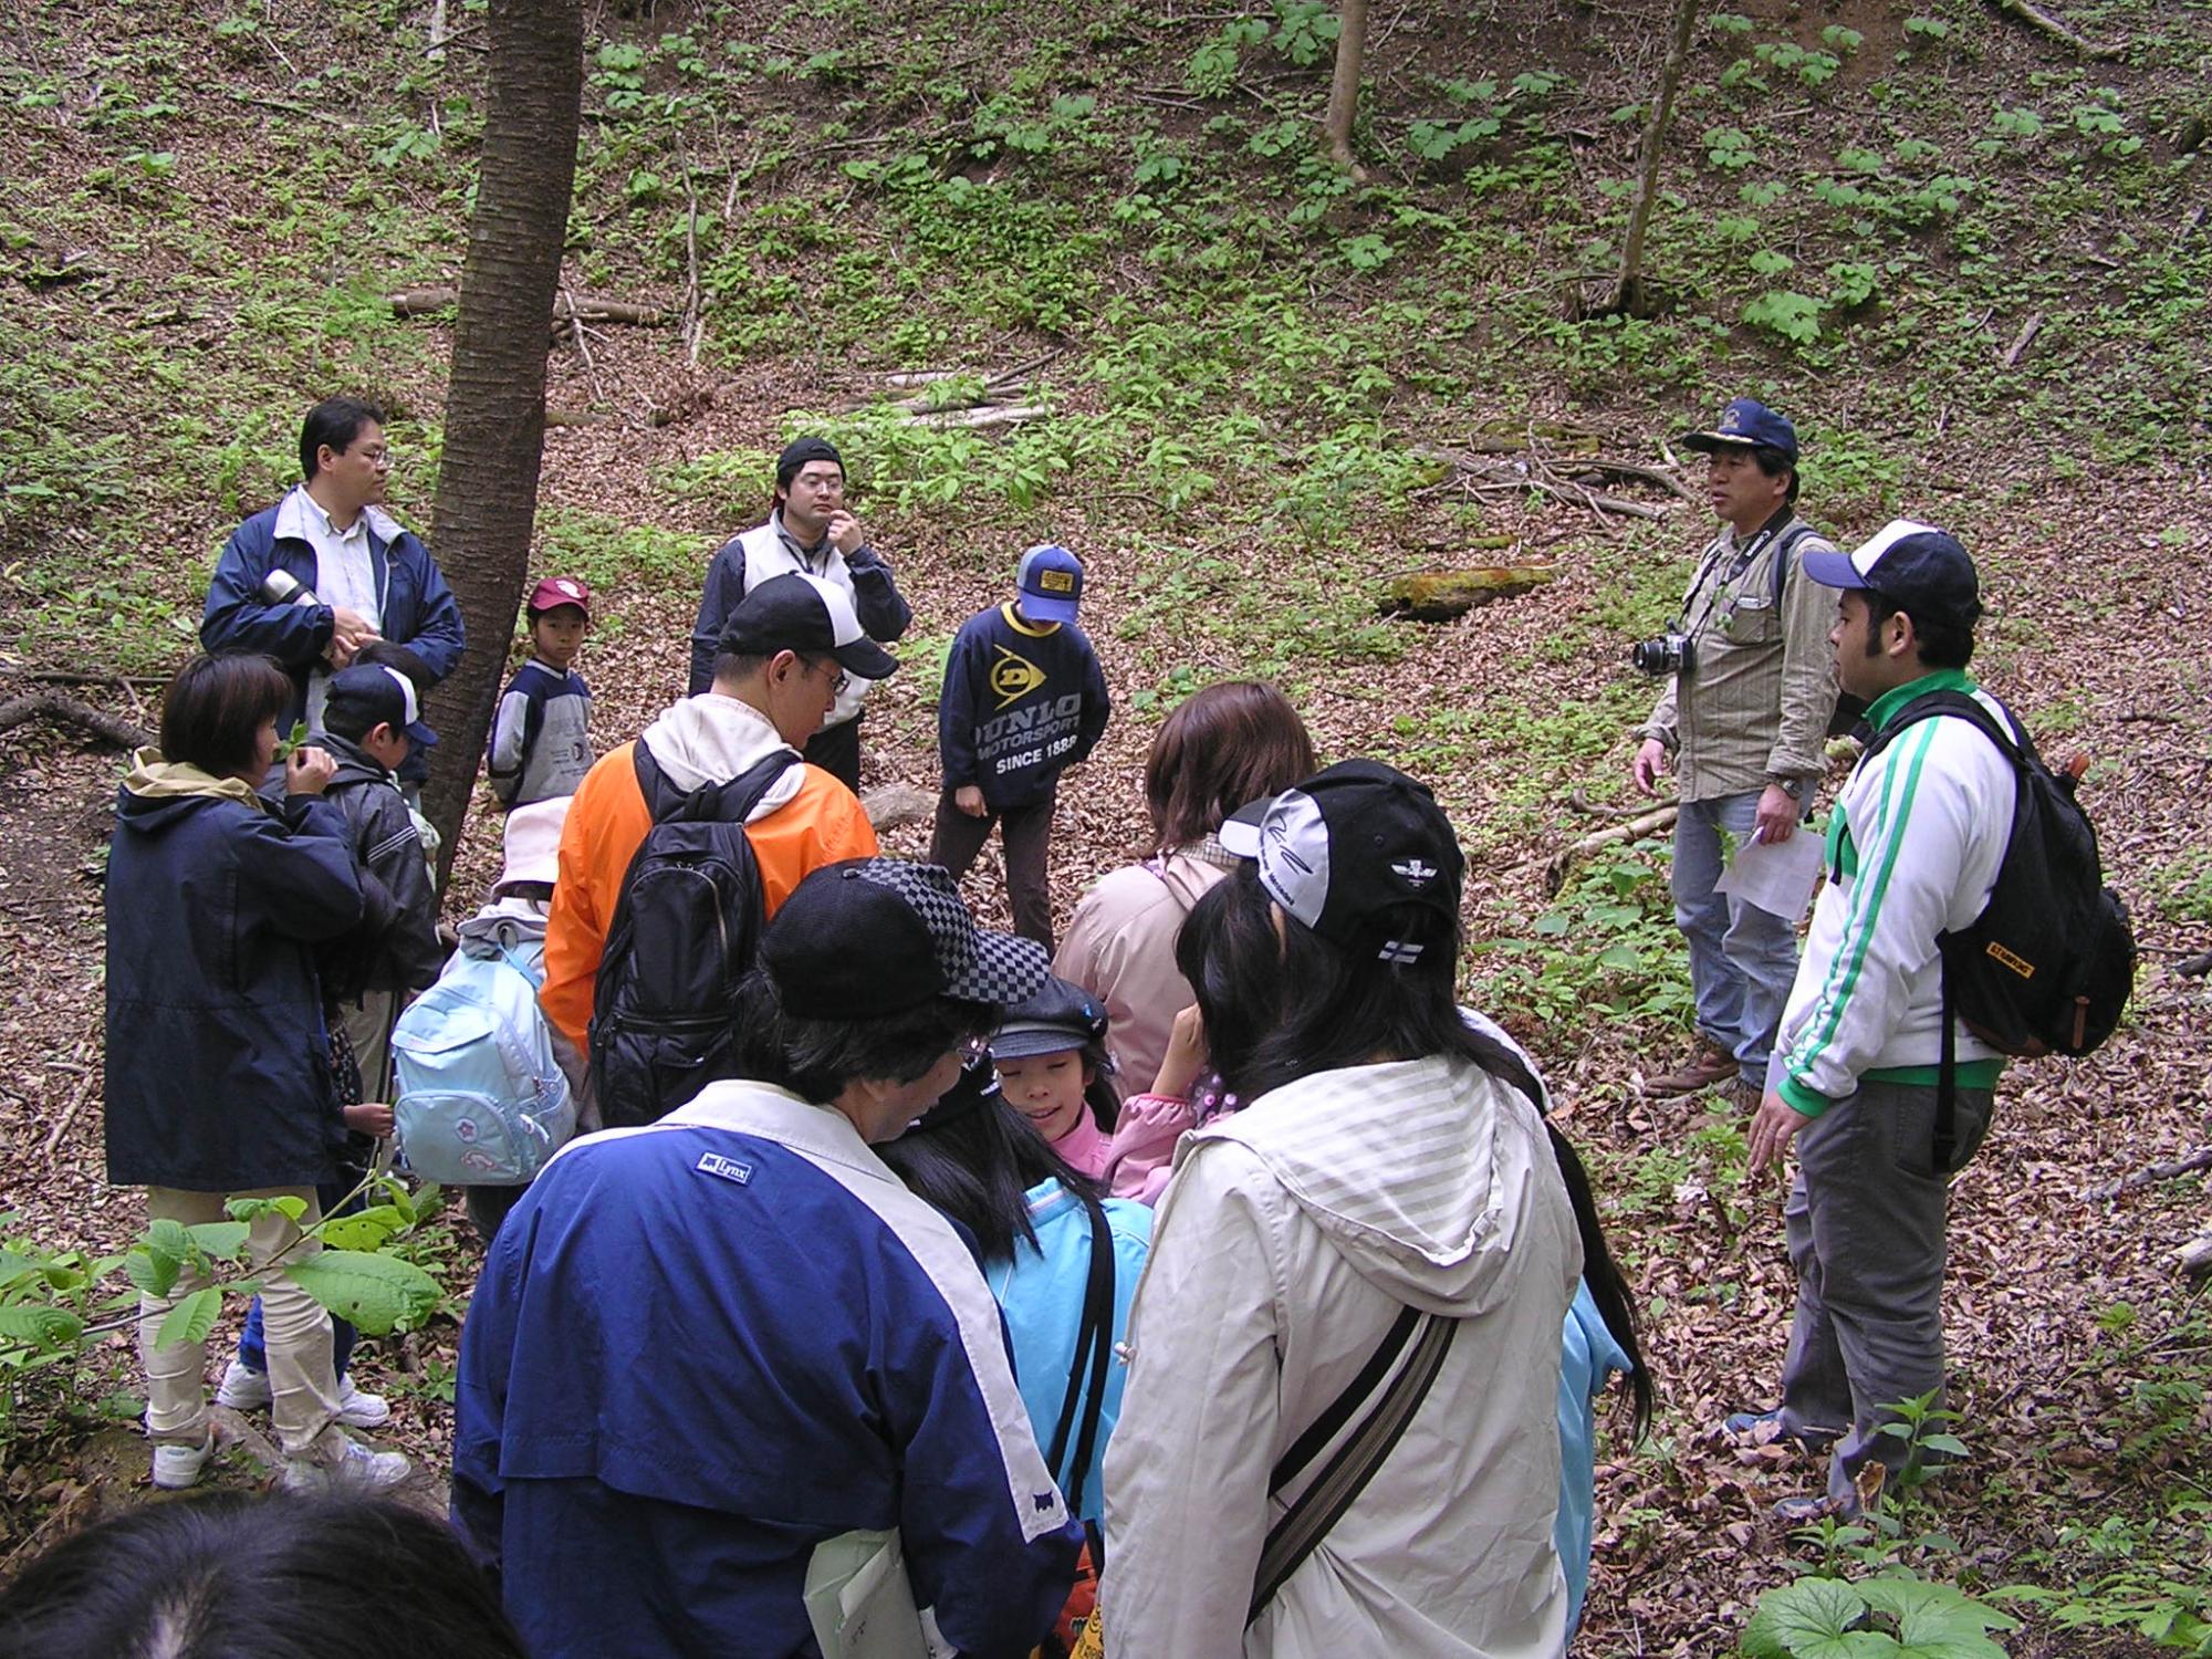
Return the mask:
M1405 905L1378 911L1363 938L1425 949L1389 964L1376 951L1340 949L1287 920L1276 936L1274 900L1245 865L1192 905L1175 940L1177 967L1197 991L1208 1062L1245 1102L1301 1077L1374 1060L1464 1060L1517 1088L1544 1110L1544 1086L1511 1044L1478 1031L1460 1013L1453 971L1460 927L1440 911ZM1186 960L1186 947L1190 960ZM1219 1031L1219 1035L1217 1035ZM1637 1312L1597 1221L1590 1177L1564 1135L1544 1119L1551 1155L1575 1206L1582 1276L1590 1301L1628 1354L1637 1436L1650 1425L1652 1383L1637 1343Z

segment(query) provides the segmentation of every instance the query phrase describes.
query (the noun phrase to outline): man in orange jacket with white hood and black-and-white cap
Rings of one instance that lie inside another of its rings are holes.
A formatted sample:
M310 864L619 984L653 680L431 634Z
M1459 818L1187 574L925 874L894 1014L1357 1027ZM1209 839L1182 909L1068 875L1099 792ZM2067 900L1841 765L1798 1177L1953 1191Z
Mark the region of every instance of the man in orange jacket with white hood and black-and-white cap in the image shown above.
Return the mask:
M883 679L898 661L876 646L845 593L812 575L779 575L730 613L714 684L672 703L637 743L679 790L728 783L776 748L805 748L847 679ZM546 916L546 1020L588 1053L591 1000L622 880L653 827L633 743L604 754L568 807L560 880ZM854 792L816 765L792 765L745 818L768 916L807 872L874 858L876 832ZM763 916L765 920L765 916Z

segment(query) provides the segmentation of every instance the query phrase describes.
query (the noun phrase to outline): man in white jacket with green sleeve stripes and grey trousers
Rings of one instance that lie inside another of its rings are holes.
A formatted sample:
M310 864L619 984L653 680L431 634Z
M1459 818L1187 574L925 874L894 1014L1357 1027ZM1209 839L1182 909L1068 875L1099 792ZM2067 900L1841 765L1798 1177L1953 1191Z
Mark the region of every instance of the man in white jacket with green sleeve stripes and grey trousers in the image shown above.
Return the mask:
M1964 690L1982 615L1973 560L1951 535L1893 520L1856 553L1814 551L1805 575L1840 588L1836 675L1880 732L1931 690ZM2013 728L2017 730L2017 728ZM1955 1033L1953 1150L1938 1164L1942 1055L1938 936L1989 902L2013 823L2013 763L1960 717L1916 721L1845 783L1827 827L1827 887L1752 1119L1752 1177L1796 1139L1783 1208L1798 1274L1778 1411L1730 1429L1834 1440L1827 1500L1854 1511L1869 1460L1902 1462L1889 1407L1942 1389L1944 1203L1989 1128L2002 1057Z

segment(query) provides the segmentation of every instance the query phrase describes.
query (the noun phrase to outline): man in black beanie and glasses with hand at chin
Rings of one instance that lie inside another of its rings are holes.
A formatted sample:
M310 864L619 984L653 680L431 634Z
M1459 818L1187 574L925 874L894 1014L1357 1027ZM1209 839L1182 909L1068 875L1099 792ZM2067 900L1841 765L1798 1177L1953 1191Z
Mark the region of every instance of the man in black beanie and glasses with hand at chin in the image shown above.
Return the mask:
M914 606L900 597L891 566L867 544L860 520L845 511L845 460L827 438L794 438L783 447L768 522L732 535L714 553L692 628L690 697L714 684L721 626L737 602L790 571L845 588L860 628L878 644L891 644L914 622ZM805 748L812 765L854 794L860 790L860 699L867 686L854 675Z

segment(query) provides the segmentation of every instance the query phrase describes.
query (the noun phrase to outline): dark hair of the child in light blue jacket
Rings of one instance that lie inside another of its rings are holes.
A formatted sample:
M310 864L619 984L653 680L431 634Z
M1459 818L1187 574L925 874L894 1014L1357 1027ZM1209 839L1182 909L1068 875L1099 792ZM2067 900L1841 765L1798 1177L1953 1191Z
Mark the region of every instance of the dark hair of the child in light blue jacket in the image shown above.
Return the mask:
M1055 1152L998 1088L991 1062L967 1066L920 1121L876 1157L914 1197L975 1237L984 1263L1013 1261L1013 1248L1035 1248L1029 1188L1060 1181L1068 1192L1099 1197L1097 1183Z

